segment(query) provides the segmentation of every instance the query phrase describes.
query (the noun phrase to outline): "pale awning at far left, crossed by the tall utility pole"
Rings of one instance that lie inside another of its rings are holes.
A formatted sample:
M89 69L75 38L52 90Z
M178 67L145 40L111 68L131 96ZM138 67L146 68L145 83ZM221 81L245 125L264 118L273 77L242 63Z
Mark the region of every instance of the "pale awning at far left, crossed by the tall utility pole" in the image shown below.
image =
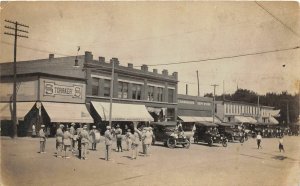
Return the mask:
M32 109L35 102L17 102L17 119L24 120L24 117ZM0 119L12 120L12 103L0 103Z

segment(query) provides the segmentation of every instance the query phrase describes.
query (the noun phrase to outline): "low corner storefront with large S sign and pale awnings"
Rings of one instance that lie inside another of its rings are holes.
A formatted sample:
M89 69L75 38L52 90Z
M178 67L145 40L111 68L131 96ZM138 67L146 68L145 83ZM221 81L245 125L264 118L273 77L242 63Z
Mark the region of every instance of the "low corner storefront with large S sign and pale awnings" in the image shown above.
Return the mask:
M0 115L1 135L10 135L12 127L11 78L2 79ZM17 86L18 136L28 136L32 126L41 124L54 135L57 123L93 123L85 105L85 81L50 74L22 74Z

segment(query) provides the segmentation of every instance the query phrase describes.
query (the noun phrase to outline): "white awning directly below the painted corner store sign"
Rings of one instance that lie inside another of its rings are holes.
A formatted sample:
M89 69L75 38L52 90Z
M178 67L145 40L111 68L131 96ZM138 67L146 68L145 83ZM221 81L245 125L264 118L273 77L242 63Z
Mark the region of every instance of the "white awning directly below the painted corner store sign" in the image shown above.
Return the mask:
M51 122L94 123L85 104L42 102Z

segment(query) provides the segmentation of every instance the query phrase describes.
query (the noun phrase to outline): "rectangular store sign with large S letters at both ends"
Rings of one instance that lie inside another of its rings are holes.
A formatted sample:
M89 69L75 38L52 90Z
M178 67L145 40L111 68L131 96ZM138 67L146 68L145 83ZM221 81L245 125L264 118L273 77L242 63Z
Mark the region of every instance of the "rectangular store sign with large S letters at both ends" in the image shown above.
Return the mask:
M44 82L44 96L70 96L72 98L82 98L82 86L79 85L59 85L55 82Z

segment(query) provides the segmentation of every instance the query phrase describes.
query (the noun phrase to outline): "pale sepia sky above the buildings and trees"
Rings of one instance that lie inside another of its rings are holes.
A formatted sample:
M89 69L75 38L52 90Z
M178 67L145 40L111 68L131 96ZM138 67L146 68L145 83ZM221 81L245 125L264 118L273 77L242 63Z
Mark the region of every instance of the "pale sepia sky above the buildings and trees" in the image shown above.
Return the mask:
M200 96L299 91L300 49L225 58L300 46L297 2L1 2L0 62L13 61L5 19L29 25L18 39L17 60L76 55L119 58L136 68L178 72L178 93ZM267 12L267 11L269 12ZM272 14L275 18L270 15ZM221 58L219 60L205 59ZM177 65L159 65L185 61ZM223 86L224 85L224 86Z

